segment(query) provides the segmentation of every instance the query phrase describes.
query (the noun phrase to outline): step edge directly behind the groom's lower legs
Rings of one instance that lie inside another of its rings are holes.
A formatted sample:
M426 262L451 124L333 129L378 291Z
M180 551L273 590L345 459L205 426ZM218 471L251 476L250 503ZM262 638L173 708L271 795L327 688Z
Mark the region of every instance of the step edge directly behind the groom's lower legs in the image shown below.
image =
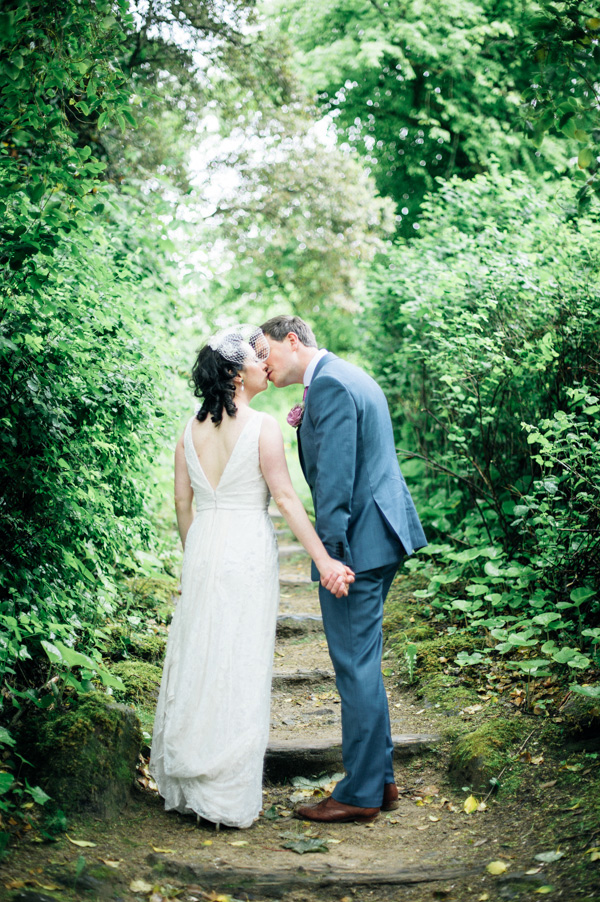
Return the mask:
M394 761L402 761L411 755L430 749L440 741L436 734L404 733L392 736ZM272 783L290 777L311 777L343 770L342 737L324 736L322 739L302 740L274 739L269 742L265 755L265 776Z

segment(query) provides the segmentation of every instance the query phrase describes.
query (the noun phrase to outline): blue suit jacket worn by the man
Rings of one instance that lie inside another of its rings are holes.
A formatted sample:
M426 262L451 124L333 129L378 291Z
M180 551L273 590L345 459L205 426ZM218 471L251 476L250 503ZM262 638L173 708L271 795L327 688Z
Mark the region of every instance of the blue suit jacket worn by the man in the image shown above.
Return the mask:
M427 544L398 466L385 395L363 370L335 354L319 361L298 447L317 533L332 557L359 573Z

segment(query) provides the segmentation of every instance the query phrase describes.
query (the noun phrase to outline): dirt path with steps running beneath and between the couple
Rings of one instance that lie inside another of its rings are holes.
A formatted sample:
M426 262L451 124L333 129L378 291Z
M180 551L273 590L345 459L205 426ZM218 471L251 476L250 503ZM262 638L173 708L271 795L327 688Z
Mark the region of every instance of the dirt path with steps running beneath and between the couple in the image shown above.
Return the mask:
M398 810L369 825L315 826L293 817L300 801L332 789L341 770L341 718L309 562L287 531L278 532L282 597L263 816L249 830L217 832L166 813L156 793L139 790L117 821L73 818L54 845L22 840L0 873L0 899L483 902L537 898L532 894L548 885L543 868L531 863L533 823L516 830L518 811L491 802L465 813L465 792L447 778L451 720L401 692L393 674ZM486 866L498 860L508 872L491 876Z

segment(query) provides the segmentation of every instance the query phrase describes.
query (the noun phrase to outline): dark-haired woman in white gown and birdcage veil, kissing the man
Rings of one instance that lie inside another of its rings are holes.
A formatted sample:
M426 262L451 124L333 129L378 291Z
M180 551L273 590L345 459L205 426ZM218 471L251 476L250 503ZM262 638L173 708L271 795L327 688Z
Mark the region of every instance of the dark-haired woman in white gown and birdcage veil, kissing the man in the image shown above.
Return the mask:
M150 770L165 808L231 827L249 827L262 807L279 602L270 495L323 586L340 598L354 580L294 492L277 421L250 408L267 388L268 354L260 329L235 326L194 365L202 403L175 450L181 597L152 736Z

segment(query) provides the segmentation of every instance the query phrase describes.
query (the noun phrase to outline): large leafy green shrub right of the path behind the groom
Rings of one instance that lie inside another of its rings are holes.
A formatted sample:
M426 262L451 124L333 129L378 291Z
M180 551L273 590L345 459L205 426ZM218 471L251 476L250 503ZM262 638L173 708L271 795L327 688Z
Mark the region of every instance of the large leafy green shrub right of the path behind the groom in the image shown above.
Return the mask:
M442 184L372 282L371 331L432 540L415 595L576 672L598 642L600 229L573 195L517 172Z

